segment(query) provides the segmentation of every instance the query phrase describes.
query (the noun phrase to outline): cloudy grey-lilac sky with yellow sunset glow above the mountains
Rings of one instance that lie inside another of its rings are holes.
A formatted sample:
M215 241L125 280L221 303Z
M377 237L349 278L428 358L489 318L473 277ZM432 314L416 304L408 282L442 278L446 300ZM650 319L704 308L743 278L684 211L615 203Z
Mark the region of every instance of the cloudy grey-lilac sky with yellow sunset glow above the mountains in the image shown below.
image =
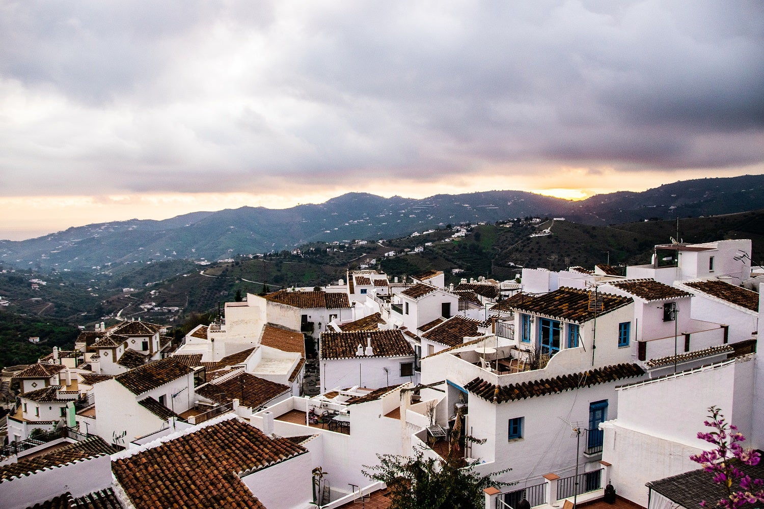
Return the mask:
M764 2L0 0L0 239L764 173Z

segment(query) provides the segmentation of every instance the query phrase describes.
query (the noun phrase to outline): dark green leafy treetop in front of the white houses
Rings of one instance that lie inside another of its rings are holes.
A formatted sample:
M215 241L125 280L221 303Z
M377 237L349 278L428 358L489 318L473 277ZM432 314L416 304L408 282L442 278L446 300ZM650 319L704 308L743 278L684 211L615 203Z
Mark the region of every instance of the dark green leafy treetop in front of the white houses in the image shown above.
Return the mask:
M461 466L461 459L435 459L416 456L377 454L380 464L364 465L363 472L373 481L384 482L390 491L390 509L452 509L483 507L483 490L509 483L494 481L511 469L479 475L474 463Z

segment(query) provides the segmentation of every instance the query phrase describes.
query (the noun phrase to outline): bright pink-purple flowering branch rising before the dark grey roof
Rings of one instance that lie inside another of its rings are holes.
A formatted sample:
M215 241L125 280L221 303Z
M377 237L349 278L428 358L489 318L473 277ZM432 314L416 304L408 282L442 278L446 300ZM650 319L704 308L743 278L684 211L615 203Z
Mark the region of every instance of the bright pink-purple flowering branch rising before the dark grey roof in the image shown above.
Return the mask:
M746 503L764 502L764 481L752 479L738 468L740 464L758 465L761 460L759 453L743 449L740 442L746 440L746 437L743 437L743 433L740 433L736 426L724 420L720 409L712 406L708 411L711 420L706 420L703 424L713 431L699 431L698 438L713 444L716 449L693 454L690 459L700 463L706 472L714 474L714 483L726 491L727 498L720 498L717 505L736 509ZM702 506L706 504L707 501L701 502Z

